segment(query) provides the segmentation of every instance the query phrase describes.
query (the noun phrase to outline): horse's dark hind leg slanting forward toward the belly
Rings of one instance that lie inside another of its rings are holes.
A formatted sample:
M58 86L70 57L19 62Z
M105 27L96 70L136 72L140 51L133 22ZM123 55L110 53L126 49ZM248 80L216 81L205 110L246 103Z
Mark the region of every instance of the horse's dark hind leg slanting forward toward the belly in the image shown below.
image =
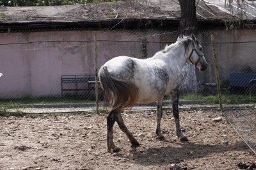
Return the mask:
M118 114L116 114L116 122L118 123L119 128L127 135L129 140L131 141L132 146L134 146L134 147L140 146L138 141L133 137L132 133L125 126L120 112L118 112Z

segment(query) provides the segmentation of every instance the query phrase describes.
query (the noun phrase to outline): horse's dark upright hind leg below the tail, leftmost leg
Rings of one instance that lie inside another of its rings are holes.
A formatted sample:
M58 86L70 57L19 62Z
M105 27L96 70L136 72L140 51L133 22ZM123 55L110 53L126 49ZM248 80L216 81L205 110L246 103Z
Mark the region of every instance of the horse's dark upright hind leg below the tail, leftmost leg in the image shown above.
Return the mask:
M113 126L116 121L116 114L118 114L118 111L110 111L107 116L107 144L108 144L108 152L111 152L113 150L114 152L120 151L120 149L115 146L113 141Z

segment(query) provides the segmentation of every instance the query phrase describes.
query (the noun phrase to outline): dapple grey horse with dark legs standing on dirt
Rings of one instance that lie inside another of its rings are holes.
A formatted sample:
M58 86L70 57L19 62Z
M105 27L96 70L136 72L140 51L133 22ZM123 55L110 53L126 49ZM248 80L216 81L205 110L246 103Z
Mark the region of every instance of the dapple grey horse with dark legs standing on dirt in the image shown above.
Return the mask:
M105 106L111 108L107 116L108 151L121 151L113 142L115 121L124 132L132 146L140 146L132 133L125 126L120 111L131 109L135 104L157 102L156 138L164 139L161 132L163 98L170 95L172 100L175 129L180 141L188 141L179 122L179 94L182 86L182 68L190 61L201 71L206 70L207 61L202 46L195 35L180 35L177 42L154 54L151 58L138 59L118 56L107 61L99 70L99 81L104 93Z

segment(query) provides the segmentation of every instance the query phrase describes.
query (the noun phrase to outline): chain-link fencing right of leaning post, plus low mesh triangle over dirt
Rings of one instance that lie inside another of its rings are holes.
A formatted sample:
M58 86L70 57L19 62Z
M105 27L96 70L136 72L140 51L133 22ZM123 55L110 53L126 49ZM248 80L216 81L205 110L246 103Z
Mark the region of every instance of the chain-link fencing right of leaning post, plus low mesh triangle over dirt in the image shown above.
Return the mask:
M223 116L256 154L253 135L256 120L253 109L256 103L255 30L216 31L214 36L221 102L233 104L231 109L223 108Z

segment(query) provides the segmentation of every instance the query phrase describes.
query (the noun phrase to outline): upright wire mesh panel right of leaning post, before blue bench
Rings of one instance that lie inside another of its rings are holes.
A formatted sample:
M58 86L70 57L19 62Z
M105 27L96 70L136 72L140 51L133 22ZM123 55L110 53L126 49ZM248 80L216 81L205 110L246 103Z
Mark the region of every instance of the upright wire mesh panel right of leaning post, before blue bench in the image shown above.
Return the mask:
M215 40L223 102L255 103L255 30L216 31Z

